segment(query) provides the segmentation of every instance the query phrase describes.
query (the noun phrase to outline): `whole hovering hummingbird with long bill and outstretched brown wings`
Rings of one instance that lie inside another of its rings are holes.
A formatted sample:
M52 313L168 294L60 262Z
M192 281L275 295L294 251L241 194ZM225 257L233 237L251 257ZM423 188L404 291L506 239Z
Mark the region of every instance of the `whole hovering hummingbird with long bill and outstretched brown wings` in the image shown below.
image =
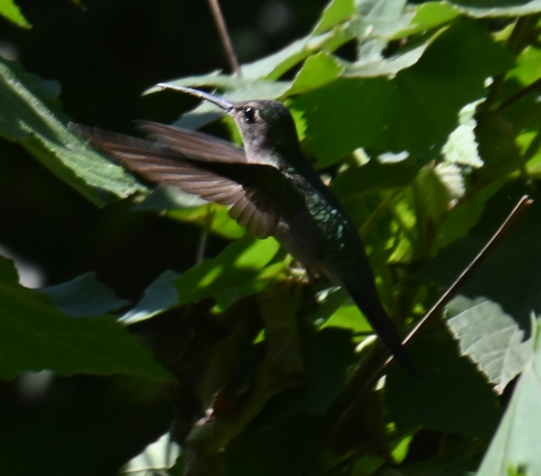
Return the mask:
M249 234L274 236L302 266L347 290L394 357L414 373L354 227L337 197L302 153L293 117L279 101L228 101L161 83L209 101L233 118L243 147L199 131L136 121L146 138L70 123L126 168L156 183L230 206Z

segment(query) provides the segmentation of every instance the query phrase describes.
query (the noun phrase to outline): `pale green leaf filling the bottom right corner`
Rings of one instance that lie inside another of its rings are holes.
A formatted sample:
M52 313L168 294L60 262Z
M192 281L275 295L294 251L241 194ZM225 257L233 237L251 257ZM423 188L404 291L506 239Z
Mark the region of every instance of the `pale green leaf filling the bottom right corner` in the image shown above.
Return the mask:
M536 322L539 335L539 321ZM541 352L536 345L535 354L527 362L523 374L514 388L502 422L477 476L494 474L538 474L541 471L539 452L539 425L541 420Z

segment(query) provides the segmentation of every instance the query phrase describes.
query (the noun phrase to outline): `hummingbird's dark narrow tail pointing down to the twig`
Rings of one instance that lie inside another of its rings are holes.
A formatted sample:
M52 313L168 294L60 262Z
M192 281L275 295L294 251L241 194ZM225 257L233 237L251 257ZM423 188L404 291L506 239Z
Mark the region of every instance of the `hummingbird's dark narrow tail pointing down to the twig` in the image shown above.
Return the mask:
M370 322L370 325L378 334L379 338L394 355L394 358L397 359L410 374L417 375L413 362L407 355L400 336L394 328L386 310L379 302L378 297L368 295L370 293L361 293L358 289L347 285L345 287L355 304L357 304L357 307L359 307L368 322ZM374 292L376 292L375 289Z

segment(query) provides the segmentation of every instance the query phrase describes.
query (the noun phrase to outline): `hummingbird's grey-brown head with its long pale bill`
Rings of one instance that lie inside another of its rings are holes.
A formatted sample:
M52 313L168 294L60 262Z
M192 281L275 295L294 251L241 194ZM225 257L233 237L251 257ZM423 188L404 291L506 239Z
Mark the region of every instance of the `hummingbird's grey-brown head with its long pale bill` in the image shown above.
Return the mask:
M162 88L186 92L212 102L233 118L242 135L249 160L276 162L280 156L292 156L300 150L293 117L278 101L254 100L232 102L198 89L159 84ZM278 163L275 163L279 167Z

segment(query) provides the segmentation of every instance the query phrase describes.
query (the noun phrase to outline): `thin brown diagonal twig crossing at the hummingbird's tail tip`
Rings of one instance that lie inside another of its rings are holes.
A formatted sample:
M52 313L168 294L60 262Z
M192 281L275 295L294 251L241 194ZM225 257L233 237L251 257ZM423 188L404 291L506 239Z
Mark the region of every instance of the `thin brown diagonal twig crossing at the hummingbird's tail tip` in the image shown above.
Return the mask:
M423 319L421 319L417 325L411 330L411 332L406 336L406 338L403 341L403 344L406 345L411 342L413 337L417 335L419 332L419 329L425 325L425 323L432 318L432 316L438 314L441 309L446 305L446 303L451 299L452 296L457 292L457 290L464 284L464 282L471 276L471 274L476 270L479 265L485 260L485 258L492 253L492 250L494 247L497 246L497 244L502 240L502 238L509 233L509 230L511 227L517 222L517 219L522 213L533 203L533 200L530 199L529 196L524 195L516 204L516 206L513 208L511 213L507 216L507 218L504 220L502 225L496 230L496 233L494 233L491 237L491 239L485 244L483 249L480 250L480 252L473 258L473 260L470 262L470 264L464 269L462 273L457 277L457 279L452 283L452 285L446 290L446 292L441 295L440 299L432 306L432 308L426 313ZM372 374L372 377L368 380L366 380L365 384L362 385L362 387L359 389L358 393L355 395L355 398L349 403L349 405L346 407L344 412L341 413L341 415L338 417L337 420L335 420L332 427L329 429L327 434L325 435L325 438L320 442L318 447L315 449L314 453L312 454L312 457L308 461L308 463L305 466L304 471L302 474L308 475L309 472L312 470L312 467L315 463L315 461L318 459L319 455L324 451L324 449L327 447L331 439L334 437L334 435L339 431L339 429L342 427L344 422L347 420L349 413L355 408L355 406L358 404L360 398L364 393L369 389L372 388L372 386L375 384L375 382L378 381L380 376L384 374L387 367L390 366L391 362L393 361L393 357L391 356L388 358L385 363L377 369Z

